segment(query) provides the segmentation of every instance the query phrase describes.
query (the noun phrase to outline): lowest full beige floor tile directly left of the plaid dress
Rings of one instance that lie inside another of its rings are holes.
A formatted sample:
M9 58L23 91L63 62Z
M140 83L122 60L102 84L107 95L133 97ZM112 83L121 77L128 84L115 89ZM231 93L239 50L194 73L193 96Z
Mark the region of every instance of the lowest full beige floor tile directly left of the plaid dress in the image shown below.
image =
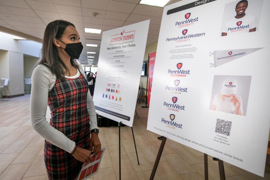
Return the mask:
M47 175L44 156L37 156L23 177Z

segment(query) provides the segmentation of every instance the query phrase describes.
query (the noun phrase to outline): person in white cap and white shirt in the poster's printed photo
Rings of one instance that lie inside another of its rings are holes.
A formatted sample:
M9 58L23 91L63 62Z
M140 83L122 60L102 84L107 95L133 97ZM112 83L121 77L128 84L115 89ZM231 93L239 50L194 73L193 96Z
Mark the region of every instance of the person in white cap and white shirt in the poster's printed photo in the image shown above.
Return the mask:
M221 93L217 93L214 97L212 110L243 116L242 98L236 93L237 81L233 78L225 79Z

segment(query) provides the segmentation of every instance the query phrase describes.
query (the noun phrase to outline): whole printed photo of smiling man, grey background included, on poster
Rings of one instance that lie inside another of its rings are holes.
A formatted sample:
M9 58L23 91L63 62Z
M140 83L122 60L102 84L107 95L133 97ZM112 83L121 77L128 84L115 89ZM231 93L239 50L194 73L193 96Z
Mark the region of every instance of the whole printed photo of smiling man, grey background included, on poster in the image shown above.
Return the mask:
M261 8L260 6L262 5L261 0L258 2L258 4L255 4L256 7L252 7L254 6L254 0L241 0L227 4L224 10L224 16L226 14L229 19L223 21L225 23L221 29L221 36L255 32L259 26L256 12L258 12L258 9ZM230 8L230 10L228 8ZM235 12L232 14L233 8L235 8ZM228 11L230 11L230 15ZM223 20L225 19L223 18Z

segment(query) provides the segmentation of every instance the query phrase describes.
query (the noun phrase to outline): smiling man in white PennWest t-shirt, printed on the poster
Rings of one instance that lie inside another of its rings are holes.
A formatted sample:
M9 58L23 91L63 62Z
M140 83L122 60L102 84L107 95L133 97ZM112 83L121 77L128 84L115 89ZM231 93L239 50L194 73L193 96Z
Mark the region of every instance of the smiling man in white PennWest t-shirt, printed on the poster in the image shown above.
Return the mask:
M247 4L247 0L239 1L236 4L236 16L225 23L221 36L256 31L258 26L257 18L256 16L245 14Z

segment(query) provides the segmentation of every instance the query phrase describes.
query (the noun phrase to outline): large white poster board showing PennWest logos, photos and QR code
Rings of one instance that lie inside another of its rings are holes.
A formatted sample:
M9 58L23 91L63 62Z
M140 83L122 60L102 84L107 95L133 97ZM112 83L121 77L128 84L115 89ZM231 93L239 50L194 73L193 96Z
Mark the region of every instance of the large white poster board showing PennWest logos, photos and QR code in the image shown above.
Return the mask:
M238 2L164 7L147 129L263 176L270 1Z

